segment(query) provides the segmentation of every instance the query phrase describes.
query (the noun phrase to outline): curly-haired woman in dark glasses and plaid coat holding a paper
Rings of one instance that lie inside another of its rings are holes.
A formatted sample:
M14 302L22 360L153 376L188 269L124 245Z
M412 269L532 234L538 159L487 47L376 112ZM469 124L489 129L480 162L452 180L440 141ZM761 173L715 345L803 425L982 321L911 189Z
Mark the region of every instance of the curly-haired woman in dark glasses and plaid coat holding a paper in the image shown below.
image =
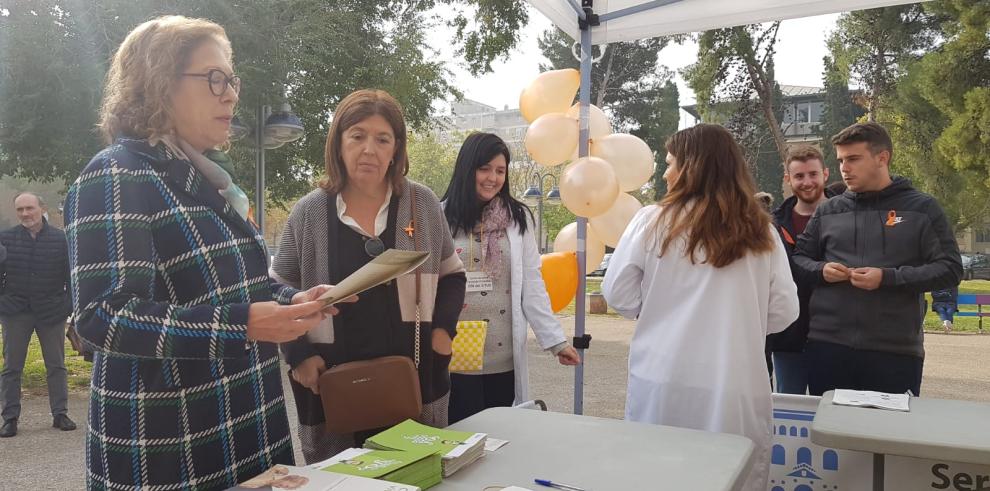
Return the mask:
M135 28L107 75L109 146L65 199L76 331L95 350L89 489L226 489L294 462L278 346L325 314L268 276L231 179L238 100L224 29ZM333 311L334 309L331 309Z

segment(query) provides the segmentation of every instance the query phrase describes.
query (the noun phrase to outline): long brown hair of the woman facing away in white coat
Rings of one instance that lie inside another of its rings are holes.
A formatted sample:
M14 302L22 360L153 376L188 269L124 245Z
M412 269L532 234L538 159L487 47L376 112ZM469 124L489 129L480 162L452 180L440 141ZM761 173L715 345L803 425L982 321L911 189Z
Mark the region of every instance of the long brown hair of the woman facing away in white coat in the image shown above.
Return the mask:
M756 185L725 128L699 124L674 133L665 146L680 174L653 222L660 255L682 237L692 264L701 248L704 262L716 268L773 250L770 216L753 198Z

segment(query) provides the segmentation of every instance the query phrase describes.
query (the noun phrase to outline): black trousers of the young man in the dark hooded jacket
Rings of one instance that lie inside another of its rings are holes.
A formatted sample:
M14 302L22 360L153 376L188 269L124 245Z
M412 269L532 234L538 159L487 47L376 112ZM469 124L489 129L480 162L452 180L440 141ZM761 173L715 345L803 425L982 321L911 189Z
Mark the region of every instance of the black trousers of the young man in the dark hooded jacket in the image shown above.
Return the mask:
M875 390L921 395L925 359L911 355L856 350L822 341L808 341L808 391L820 396L833 389Z

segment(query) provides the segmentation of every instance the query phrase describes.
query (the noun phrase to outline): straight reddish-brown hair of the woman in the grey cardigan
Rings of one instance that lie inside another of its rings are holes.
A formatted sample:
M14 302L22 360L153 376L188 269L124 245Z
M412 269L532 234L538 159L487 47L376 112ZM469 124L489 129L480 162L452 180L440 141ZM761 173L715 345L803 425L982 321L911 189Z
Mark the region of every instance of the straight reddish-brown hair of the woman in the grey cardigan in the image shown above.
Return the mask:
M385 178L391 181L393 193L402 194L405 176L409 172L406 120L402 115L399 101L384 90L374 89L355 90L337 105L323 154L326 164L324 170L327 175L320 182L321 188L331 194L337 194L347 186L347 167L344 165L344 157L340 154L341 139L348 128L376 114L388 121L392 133L395 134L395 153L392 155L392 165L386 171Z

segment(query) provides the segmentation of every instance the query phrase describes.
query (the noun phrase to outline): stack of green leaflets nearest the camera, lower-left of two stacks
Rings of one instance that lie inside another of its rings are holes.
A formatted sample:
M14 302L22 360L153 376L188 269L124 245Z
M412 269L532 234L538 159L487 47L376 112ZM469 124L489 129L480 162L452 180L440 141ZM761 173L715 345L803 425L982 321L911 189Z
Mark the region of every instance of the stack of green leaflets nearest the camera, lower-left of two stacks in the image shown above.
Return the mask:
M423 449L350 448L317 465L323 471L409 484L421 489L440 484L442 472L440 456Z

